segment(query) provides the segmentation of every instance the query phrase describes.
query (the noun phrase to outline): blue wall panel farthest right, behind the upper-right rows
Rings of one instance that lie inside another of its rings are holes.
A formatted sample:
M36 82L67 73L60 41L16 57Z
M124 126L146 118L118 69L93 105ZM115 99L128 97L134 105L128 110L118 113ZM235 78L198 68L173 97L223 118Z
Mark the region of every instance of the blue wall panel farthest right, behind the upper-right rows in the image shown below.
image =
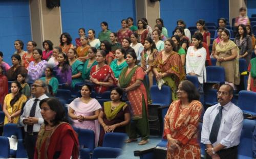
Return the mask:
M171 36L178 19L183 19L188 27L195 26L196 21L201 18L206 22L216 23L220 17L228 18L228 0L162 0L160 1L160 16Z

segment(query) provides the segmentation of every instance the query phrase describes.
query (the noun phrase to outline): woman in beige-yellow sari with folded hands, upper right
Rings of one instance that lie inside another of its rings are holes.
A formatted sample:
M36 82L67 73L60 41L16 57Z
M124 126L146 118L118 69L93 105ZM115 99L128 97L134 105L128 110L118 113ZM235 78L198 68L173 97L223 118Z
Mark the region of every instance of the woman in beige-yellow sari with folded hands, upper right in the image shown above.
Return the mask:
M238 46L229 40L229 32L224 30L221 33L222 41L216 46L214 58L217 59L216 66L225 70L225 82L235 88L240 84L240 73L238 64Z

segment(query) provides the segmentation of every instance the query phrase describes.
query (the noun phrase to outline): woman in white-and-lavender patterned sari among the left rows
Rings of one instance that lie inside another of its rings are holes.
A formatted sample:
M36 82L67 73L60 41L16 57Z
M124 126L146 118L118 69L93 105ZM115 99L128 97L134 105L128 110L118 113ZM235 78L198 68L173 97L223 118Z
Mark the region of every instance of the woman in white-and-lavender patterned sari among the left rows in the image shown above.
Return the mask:
M31 81L35 81L38 78L40 78L47 66L47 61L41 60L42 50L40 48L34 49L33 58L34 58L34 61L29 63L29 67L28 67L28 77L29 77L29 80Z

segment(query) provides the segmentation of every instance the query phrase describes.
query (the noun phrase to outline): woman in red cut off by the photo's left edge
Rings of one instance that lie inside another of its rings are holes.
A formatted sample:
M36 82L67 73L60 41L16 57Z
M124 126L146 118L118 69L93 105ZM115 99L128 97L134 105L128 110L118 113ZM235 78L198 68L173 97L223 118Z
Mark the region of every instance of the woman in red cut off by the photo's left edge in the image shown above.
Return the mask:
M9 91L8 79L3 74L3 71L4 71L3 66L0 66L0 104L1 104L2 110L3 110L5 96L8 94L8 91Z

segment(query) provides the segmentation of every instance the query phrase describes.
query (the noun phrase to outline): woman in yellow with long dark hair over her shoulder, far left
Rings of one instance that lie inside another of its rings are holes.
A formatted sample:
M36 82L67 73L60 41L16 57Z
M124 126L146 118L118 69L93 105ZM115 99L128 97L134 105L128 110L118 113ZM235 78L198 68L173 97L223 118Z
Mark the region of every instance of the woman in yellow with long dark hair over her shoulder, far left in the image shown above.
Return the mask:
M18 123L22 105L27 101L27 97L22 94L22 86L19 82L13 81L11 93L5 96L3 112L5 113L4 124Z

